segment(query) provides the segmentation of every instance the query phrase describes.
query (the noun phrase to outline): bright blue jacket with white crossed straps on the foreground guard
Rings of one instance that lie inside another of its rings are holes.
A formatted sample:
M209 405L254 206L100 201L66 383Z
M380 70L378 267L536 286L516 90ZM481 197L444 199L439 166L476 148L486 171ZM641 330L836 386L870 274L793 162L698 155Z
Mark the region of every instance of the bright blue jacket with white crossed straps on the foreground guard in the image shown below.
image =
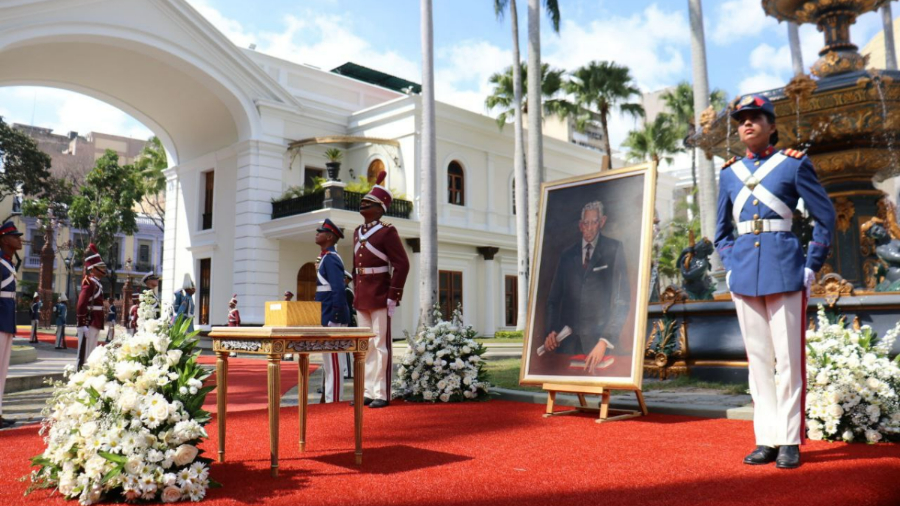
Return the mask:
M801 198L815 222L805 258L790 232ZM730 290L763 296L803 289L804 267L818 271L825 263L834 221L834 206L806 155L770 147L729 160L719 175L715 245L731 273Z

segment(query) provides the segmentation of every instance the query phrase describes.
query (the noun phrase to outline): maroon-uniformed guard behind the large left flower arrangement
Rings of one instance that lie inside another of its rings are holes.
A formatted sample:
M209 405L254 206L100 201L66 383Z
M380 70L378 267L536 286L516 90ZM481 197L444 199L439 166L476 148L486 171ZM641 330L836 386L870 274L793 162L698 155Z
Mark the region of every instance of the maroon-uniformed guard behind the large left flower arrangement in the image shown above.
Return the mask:
M84 367L91 352L97 347L97 338L103 330L106 311L103 307L103 285L100 278L106 276L106 264L100 259L97 246L88 246L84 258L84 279L75 316L78 325L78 370Z

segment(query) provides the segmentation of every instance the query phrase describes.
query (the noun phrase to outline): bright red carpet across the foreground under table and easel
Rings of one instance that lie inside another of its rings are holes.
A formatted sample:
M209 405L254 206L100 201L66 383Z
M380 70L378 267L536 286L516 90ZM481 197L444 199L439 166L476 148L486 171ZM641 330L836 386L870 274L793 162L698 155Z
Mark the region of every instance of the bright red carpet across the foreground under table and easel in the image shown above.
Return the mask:
M595 424L542 418L543 406L395 403L365 410L361 467L353 464L349 405L310 407L297 451L297 410L281 410L281 476L270 478L265 411L228 420L227 461L212 465L220 505L853 505L900 504L900 445L812 442L804 465L751 467L750 422L651 415ZM216 454L215 423L207 455ZM22 498L34 427L0 433L0 504L73 504L47 492Z

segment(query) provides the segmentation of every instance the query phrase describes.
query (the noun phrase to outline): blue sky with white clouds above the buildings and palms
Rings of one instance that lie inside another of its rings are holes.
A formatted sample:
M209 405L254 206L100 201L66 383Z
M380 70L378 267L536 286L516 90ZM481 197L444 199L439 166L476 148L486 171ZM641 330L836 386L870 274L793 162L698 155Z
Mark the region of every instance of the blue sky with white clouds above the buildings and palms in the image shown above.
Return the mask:
M331 69L354 61L419 81L418 0L188 0L236 45ZM786 83L791 76L787 27L765 17L760 0L703 2L710 85L729 97ZM551 65L572 70L590 60L628 65L638 86L655 91L691 80L687 0L562 0L560 33L544 18L542 53ZM248 8L248 5L253 5ZM522 56L527 27L519 0ZM511 63L509 19L497 20L491 0L434 0L438 100L484 113L491 73ZM864 46L881 29L877 13L852 28ZM813 26L800 30L804 64L823 45ZM0 88L0 115L59 132L94 130L146 137L125 113L88 97L44 88ZM613 145L634 127L614 118Z

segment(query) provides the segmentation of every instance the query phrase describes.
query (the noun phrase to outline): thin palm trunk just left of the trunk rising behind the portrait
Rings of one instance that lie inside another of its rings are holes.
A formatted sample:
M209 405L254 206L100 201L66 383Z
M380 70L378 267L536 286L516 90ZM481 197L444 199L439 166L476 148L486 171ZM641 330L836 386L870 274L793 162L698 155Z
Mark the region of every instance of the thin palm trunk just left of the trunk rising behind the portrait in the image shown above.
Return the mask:
M515 147L513 152L513 169L516 185L516 250L517 250L517 274L518 274L518 316L516 329L525 328L525 319L528 312L528 179L525 176L525 133L522 126L522 57L519 54L519 13L516 9L516 0L509 2L509 18L512 22L513 35L513 100L516 107L515 123Z

